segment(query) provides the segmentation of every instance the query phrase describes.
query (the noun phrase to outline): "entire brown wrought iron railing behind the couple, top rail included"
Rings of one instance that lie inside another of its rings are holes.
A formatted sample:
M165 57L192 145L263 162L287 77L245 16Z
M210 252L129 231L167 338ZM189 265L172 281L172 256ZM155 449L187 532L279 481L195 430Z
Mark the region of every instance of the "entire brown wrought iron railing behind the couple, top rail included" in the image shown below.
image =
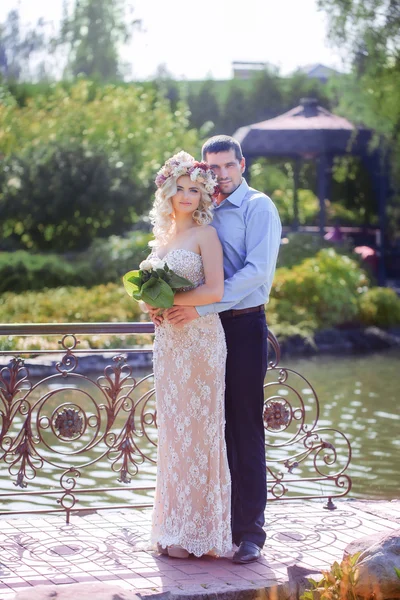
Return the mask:
M152 505L157 420L151 350L90 350L103 361L100 374L81 368L88 350L78 345L79 336L87 334L153 332L151 323L0 325L0 340L62 336L57 350L0 350L0 514L65 511L68 522L72 511ZM334 508L332 499L351 489L345 473L349 440L337 429L318 426L315 390L302 375L280 366L272 333L269 343L268 499L326 498L326 507ZM34 377L27 361L35 355L40 362L42 354L59 356L47 374ZM138 354L148 357L142 376L135 370ZM104 479L111 485L99 485ZM122 504L116 500L121 492ZM111 500L98 504L110 494ZM43 498L56 499L59 506L44 506Z

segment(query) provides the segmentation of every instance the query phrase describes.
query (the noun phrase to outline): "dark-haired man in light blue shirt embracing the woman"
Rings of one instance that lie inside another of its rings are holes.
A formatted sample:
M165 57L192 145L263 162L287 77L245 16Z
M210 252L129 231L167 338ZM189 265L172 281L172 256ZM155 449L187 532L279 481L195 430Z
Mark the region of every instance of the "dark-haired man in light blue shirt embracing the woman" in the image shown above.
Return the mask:
M226 444L232 479L232 537L235 563L260 558L265 542L267 500L263 383L267 370L264 304L268 302L281 238L272 200L243 178L240 144L217 135L202 148L220 188L212 225L224 251L224 296L207 306L174 306L165 316L174 325L219 313L225 330Z

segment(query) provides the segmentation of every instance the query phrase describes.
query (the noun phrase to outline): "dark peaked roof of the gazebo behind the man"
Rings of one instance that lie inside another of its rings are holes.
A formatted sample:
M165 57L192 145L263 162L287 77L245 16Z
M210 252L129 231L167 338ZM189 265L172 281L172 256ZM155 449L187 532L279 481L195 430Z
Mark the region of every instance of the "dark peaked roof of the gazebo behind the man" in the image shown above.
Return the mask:
M245 127L233 136L247 156L362 154L371 132L318 106L313 98L286 113Z

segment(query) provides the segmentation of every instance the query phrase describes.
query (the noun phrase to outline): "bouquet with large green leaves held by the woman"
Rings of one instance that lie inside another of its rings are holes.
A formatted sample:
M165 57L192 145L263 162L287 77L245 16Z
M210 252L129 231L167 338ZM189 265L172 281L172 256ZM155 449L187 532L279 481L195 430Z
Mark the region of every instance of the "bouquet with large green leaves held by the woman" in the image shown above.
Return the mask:
M193 285L162 260L158 263L144 260L138 270L125 273L123 282L129 296L154 308L170 308L174 303L174 290Z

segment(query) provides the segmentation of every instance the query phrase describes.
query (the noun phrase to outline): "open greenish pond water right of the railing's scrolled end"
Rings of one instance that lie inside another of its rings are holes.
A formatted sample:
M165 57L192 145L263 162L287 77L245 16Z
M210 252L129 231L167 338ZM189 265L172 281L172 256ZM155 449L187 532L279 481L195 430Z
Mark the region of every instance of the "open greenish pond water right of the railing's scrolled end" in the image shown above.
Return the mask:
M314 386L320 425L348 437L350 497L400 497L400 351L287 360Z

